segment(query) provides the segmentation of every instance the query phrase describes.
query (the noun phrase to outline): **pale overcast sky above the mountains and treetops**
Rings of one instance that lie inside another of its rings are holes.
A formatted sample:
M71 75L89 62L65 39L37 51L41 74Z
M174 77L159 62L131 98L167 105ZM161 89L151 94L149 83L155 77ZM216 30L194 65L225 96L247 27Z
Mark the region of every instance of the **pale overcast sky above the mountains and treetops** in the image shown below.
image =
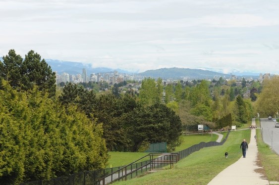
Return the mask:
M279 74L279 0L0 0L0 56Z

